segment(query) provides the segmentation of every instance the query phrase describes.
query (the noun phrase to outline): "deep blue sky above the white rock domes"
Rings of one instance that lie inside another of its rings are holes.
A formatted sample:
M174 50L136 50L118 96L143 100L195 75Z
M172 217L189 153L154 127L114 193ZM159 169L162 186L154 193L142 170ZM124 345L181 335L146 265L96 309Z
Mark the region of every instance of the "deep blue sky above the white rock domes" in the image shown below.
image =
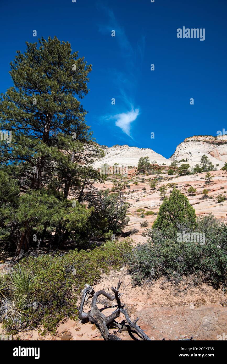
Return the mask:
M169 158L184 138L227 130L226 0L13 0L1 11L0 91L12 86L9 62L25 41L69 41L92 64L82 104L101 145ZM183 26L205 28L205 40L178 38Z

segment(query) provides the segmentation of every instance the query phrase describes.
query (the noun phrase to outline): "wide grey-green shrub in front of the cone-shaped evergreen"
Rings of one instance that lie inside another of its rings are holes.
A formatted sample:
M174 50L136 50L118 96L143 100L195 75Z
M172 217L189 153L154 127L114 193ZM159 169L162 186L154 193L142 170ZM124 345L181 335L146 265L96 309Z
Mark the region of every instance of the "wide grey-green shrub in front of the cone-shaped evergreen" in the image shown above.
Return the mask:
M178 225L178 231L205 233L205 244L179 242L169 227L165 231L147 229L146 244L139 244L128 260L134 284L162 276L178 284L184 276L192 276L194 284L206 282L214 288L227 286L227 226L212 214L199 217L196 229Z

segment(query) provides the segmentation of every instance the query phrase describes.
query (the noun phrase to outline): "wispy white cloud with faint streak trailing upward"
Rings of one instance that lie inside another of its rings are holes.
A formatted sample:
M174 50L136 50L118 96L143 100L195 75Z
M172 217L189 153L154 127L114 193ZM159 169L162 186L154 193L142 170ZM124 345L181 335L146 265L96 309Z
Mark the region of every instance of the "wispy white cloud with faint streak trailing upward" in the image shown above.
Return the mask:
M142 69L140 65L143 63L144 51L145 51L145 36L141 36L140 39L132 45L126 35L124 26L118 22L114 11L99 2L98 7L100 11L105 13L104 24L99 24L99 31L106 34L110 34L112 30L116 31L116 41L118 42L119 55L123 58L123 64L126 67L121 67L120 70L111 68L109 73L111 74L112 83L117 85L118 95L115 98L118 99L118 110L130 110L122 112L116 115L104 116L105 120L115 120L115 125L118 126L126 135L133 139L131 136L132 123L139 115L139 108L134 110L134 91L136 84L138 83L139 72ZM130 31L128 30L130 34ZM108 71L106 71L108 72ZM121 103L121 105L120 105ZM124 106L123 106L124 104Z

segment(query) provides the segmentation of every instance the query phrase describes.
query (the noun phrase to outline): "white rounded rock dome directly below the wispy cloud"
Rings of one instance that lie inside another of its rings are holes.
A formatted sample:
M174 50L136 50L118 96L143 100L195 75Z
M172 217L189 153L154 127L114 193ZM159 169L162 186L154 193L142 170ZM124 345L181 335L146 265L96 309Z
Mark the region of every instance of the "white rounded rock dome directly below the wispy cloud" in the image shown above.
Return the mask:
M144 149L137 147L129 147L128 145L114 145L110 148L106 147L104 150L105 157L94 163L94 167L98 168L101 165L108 163L113 166L114 163L118 163L120 166L136 166L138 165L140 157L149 157L150 161L157 161L159 165L165 163L167 166L171 164L171 161L163 157L161 154L155 153L152 149Z

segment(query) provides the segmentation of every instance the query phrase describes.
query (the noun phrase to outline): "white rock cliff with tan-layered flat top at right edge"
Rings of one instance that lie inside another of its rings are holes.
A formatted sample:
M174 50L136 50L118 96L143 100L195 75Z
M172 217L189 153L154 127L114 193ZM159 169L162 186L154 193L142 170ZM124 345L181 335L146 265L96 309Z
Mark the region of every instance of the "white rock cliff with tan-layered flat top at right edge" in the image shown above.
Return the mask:
M199 135L186 138L180 143L170 157L171 161L186 159L191 167L200 164L202 155L207 155L214 166L219 164L218 170L227 162L227 135L223 137L212 137L210 135Z

